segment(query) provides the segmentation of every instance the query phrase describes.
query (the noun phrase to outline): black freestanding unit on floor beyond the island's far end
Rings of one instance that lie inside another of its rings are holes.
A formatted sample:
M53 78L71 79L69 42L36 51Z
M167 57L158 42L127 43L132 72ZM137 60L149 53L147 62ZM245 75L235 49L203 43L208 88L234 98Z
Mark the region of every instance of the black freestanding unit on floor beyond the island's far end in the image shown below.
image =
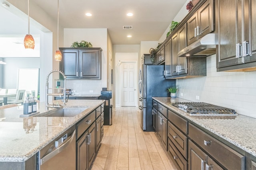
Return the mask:
M102 90L100 99L106 100L104 105L104 125L112 125L112 107L110 99L112 98L112 91Z

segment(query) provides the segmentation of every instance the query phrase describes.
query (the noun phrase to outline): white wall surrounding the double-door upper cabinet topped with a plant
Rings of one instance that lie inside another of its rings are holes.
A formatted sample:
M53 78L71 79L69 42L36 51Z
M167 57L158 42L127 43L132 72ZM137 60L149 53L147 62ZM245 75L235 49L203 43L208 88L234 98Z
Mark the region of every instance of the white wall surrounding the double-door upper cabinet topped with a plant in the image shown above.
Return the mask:
M101 58L101 80L67 80L67 88L77 90L80 94L100 94L102 88L107 87L107 37L106 28L98 29L64 29L64 45L70 47L73 42L82 40L92 43L92 47L102 48ZM90 93L90 90L93 90Z

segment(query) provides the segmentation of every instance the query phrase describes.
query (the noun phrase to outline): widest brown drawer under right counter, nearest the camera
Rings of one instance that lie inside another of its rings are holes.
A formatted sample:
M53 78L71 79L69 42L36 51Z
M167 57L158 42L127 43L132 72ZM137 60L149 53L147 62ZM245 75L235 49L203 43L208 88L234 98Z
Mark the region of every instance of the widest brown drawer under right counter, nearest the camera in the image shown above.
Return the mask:
M189 137L225 168L244 170L245 156L189 124ZM239 168L240 167L240 168Z

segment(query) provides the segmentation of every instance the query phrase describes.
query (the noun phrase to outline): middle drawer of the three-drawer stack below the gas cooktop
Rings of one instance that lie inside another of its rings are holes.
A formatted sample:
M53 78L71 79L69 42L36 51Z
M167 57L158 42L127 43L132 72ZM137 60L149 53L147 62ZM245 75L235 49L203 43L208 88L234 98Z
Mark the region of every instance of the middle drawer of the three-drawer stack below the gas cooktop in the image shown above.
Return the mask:
M188 158L188 137L168 121L168 137L185 159Z

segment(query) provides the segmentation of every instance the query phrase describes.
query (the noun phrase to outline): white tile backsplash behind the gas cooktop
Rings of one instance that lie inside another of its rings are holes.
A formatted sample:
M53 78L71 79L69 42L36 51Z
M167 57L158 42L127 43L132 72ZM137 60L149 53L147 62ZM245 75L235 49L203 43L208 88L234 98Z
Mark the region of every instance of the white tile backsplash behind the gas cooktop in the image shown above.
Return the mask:
M217 72L216 55L207 57L206 63L207 76L178 79L178 97L229 107L256 118L256 71Z

